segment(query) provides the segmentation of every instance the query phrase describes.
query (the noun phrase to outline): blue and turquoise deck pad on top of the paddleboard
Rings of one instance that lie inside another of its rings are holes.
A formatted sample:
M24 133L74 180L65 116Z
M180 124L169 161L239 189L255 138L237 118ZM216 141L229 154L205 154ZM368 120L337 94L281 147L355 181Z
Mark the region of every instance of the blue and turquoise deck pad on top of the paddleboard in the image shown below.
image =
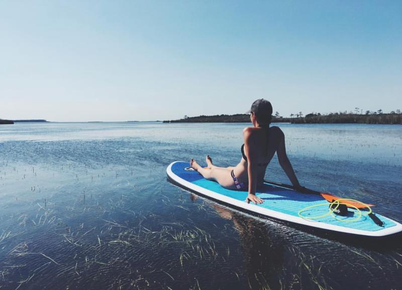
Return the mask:
M244 201L247 198L247 191L226 189L215 181L205 179L202 175L200 175L196 171L184 170L184 168L188 166L189 163L187 162L176 162L172 166L172 171L179 177L191 183L194 183L200 187L217 192L218 194L240 201ZM262 207L265 209L269 209L272 211L296 217L298 217L298 213L300 210L318 204L325 204L325 205L308 209L302 212L302 215L304 217L309 216L315 217L324 215L329 212L330 203L327 202L323 197L313 194L303 194L296 190L283 188L274 184L264 183L264 185L259 186L257 188L256 195L260 199L264 200L263 204L257 205L258 207ZM378 231L396 225L393 221L383 216L377 215L380 218L380 220L385 223L383 227L379 227L369 217L367 217L366 211L362 211L362 217L357 220L356 218L359 216L358 212L354 209L348 209L348 211L349 214L346 217L335 216L335 214L332 214L322 218L314 219L313 221L323 222L330 225L342 226L352 229L365 230L365 231Z

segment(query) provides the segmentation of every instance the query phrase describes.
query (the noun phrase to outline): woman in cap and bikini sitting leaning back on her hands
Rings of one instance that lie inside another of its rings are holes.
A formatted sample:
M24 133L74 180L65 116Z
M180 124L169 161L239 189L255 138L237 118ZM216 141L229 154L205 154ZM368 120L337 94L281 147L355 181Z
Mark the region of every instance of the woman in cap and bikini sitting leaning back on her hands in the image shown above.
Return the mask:
M305 191L300 186L292 165L286 155L285 136L278 127L269 127L272 106L267 100L259 99L251 105L250 119L253 127L243 130L244 144L241 147L242 159L236 166L218 167L207 156L208 167L201 167L194 159L190 165L206 179L215 180L228 189L248 190L247 203L262 204L255 195L258 184L264 181L265 169L273 155L277 154L279 164L296 190Z

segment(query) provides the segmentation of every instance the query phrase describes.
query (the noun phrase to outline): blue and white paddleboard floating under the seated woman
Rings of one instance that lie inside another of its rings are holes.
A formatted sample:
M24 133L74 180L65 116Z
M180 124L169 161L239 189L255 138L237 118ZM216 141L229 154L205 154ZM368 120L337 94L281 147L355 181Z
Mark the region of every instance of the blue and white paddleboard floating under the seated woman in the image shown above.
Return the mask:
M172 162L166 169L167 176L185 189L238 210L284 222L360 236L381 237L402 231L402 225L396 221L374 213L383 223L379 226L366 211L353 207L348 208L346 216L335 215L329 210L330 203L322 195L304 194L276 182L265 181L258 186L256 195L264 201L263 204L247 204L247 191L226 189L218 182L205 179L189 166L188 162Z

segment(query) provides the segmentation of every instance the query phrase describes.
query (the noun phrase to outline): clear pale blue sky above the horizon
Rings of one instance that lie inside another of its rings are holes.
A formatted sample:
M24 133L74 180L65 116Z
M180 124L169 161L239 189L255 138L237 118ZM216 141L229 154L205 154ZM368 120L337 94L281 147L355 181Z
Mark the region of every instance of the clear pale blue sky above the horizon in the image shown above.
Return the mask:
M0 1L0 118L402 110L401 1Z

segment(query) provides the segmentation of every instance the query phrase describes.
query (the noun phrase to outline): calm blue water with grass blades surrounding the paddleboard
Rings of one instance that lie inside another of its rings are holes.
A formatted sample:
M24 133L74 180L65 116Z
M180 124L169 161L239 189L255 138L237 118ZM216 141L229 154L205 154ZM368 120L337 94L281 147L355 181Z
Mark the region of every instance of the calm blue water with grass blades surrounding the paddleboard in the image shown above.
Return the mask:
M251 217L166 179L240 158L247 124L0 127L0 289L401 289L402 241ZM278 125L300 182L402 222L402 127ZM276 158L266 172L286 182Z

